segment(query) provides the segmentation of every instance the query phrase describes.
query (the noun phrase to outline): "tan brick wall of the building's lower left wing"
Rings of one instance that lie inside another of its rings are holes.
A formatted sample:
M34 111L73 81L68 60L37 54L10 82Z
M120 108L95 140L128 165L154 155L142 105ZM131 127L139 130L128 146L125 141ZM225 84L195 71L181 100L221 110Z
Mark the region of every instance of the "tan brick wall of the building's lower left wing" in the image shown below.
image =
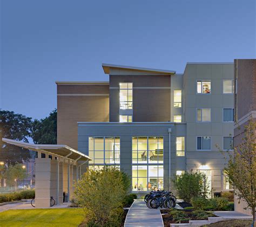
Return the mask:
M77 122L109 121L109 96L83 94L109 94L106 85L57 85L57 143L77 149ZM82 95L81 95L82 94Z

